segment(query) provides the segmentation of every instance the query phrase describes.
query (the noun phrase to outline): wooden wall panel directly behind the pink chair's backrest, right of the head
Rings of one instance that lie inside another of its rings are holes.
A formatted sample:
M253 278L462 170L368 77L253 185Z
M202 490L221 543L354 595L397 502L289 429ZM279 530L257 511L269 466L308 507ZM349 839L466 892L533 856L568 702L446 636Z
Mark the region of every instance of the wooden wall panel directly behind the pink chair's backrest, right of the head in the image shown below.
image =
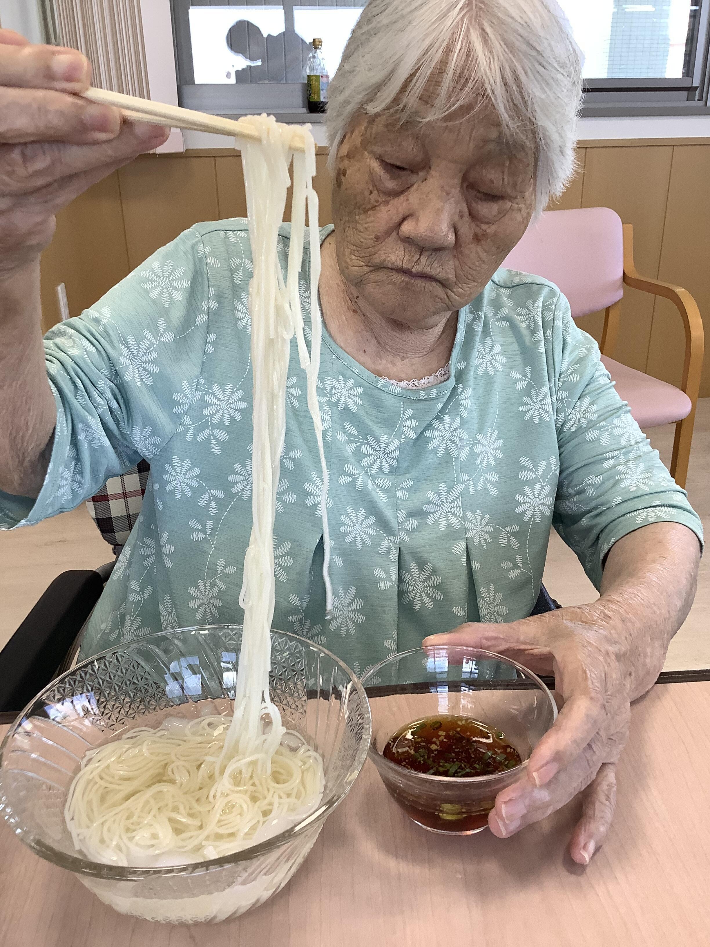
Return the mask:
M633 223L636 264L648 277L658 276L672 158L671 146L587 149L582 206L612 207L624 223ZM592 318L600 335L602 317ZM610 354L645 371L652 320L653 298L626 290L619 338Z

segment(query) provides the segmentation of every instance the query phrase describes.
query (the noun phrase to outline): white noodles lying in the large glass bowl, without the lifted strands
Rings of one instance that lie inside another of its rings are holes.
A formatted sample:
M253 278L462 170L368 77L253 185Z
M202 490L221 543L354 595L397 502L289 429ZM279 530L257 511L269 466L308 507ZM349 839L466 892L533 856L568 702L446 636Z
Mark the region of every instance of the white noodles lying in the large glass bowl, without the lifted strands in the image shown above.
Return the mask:
M220 716L169 717L87 755L65 809L77 849L107 865L184 865L231 855L310 815L323 796L319 754L292 730L268 767L256 754L224 759L229 726Z

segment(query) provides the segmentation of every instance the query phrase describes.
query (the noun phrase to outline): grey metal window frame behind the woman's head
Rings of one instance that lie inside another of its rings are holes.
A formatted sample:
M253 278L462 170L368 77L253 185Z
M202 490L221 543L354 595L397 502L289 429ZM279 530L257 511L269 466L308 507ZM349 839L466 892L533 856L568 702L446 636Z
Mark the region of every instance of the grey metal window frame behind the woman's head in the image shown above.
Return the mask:
M696 0L696 3L700 9L690 54L693 75L680 79L586 80L582 117L709 115L710 0ZM221 116L267 111L275 114L279 121L302 121L304 115L309 116L309 121L323 120L322 116L308 113L305 83L196 85L187 19L190 5L191 0L170 0L181 105Z

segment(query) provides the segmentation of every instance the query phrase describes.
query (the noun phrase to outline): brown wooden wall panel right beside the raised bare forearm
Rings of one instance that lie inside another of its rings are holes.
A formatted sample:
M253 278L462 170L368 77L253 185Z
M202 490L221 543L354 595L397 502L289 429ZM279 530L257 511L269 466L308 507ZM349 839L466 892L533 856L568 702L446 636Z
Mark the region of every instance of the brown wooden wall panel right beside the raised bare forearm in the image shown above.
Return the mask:
M56 287L64 283L69 312L93 306L130 272L116 172L57 215L54 239L42 257L43 328L60 320Z

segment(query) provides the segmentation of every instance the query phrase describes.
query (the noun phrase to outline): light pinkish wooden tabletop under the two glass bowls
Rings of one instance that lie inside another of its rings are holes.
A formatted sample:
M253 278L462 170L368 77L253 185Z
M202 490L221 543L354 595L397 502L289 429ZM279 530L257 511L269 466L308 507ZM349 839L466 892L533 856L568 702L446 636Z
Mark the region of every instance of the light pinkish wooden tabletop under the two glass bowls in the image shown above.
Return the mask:
M710 682L634 707L607 844L566 854L578 805L512 839L423 831L371 763L306 864L240 920L115 914L0 829L2 947L702 947L710 944ZM4 728L3 728L4 730Z

